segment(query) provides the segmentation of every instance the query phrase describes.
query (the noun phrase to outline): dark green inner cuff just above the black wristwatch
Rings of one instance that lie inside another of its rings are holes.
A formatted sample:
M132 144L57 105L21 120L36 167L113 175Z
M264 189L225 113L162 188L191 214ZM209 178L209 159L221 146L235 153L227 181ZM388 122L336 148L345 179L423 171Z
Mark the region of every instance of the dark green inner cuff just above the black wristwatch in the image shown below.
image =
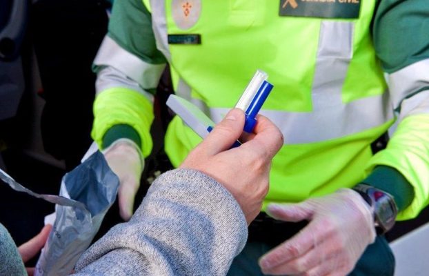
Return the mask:
M395 198L399 211L405 210L414 199L414 188L395 168L377 166L362 183L390 193Z

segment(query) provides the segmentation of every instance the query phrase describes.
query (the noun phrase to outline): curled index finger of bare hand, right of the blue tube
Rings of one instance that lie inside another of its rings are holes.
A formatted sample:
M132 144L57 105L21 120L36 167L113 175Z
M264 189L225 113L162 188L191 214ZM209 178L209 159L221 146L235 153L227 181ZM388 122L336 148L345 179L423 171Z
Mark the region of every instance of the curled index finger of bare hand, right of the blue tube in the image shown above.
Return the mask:
M248 143L252 144L252 147L262 148L270 158L274 157L283 146L283 134L270 119L263 115L258 116L253 132L255 136L249 136L251 140Z

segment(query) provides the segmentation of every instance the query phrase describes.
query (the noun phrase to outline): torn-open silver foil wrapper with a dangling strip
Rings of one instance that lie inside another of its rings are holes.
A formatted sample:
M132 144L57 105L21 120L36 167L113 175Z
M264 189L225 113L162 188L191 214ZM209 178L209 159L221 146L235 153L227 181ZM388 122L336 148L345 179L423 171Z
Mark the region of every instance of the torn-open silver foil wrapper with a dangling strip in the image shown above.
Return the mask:
M34 273L43 276L72 272L99 230L119 187L118 177L99 151L63 177L59 195L34 193L3 170L0 179L14 190L56 204L56 219Z

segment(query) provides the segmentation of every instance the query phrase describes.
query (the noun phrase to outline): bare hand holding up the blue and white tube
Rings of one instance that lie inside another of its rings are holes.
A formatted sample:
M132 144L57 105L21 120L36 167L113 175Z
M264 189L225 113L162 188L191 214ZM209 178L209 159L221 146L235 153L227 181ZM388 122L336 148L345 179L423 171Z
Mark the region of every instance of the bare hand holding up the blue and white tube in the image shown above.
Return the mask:
M230 148L242 134L244 121L242 110L230 110L181 168L200 170L225 186L250 224L268 193L271 159L283 145L283 135L268 118L259 116L254 133L243 136L238 148Z

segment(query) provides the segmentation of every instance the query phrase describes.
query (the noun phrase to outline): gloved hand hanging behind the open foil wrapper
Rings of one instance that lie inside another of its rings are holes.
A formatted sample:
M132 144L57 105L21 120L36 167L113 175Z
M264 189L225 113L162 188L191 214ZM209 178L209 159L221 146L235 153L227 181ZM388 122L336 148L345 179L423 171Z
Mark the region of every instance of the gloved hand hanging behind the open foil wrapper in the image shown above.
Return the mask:
M137 144L130 139L118 139L103 150L108 165L119 177L119 215L128 221L133 213L134 197L139 190L144 159Z

